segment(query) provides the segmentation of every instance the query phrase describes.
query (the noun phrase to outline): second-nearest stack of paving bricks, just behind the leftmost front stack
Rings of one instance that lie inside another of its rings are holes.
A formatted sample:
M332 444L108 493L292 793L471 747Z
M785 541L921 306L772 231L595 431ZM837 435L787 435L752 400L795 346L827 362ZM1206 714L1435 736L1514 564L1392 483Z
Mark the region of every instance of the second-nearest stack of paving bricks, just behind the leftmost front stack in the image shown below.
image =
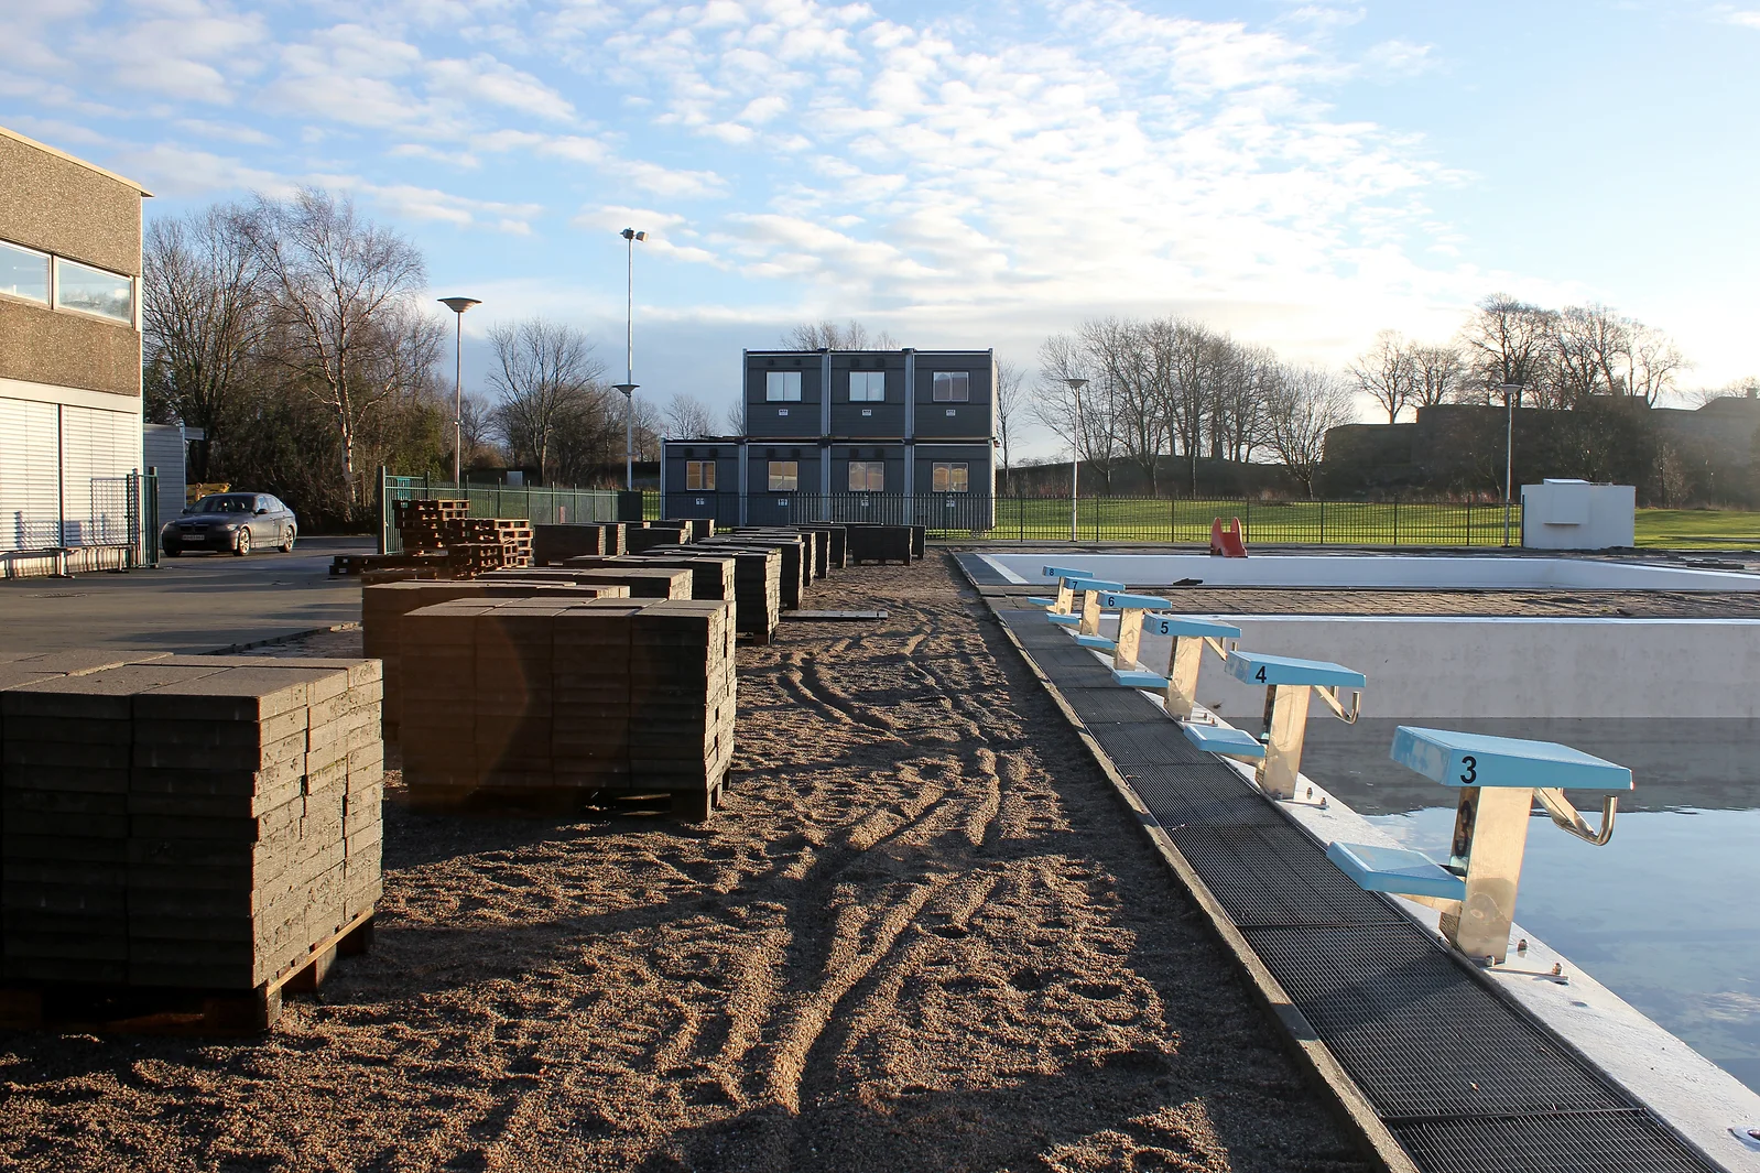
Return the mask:
M662 791L706 819L732 757L718 601L454 601L405 616L403 778L473 793Z

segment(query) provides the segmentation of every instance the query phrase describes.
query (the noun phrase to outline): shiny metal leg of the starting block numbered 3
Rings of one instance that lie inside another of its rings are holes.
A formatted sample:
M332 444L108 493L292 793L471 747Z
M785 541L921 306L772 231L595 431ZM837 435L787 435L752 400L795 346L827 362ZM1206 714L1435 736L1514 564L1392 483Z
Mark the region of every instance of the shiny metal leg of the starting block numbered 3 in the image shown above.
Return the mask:
M1501 965L1515 923L1515 889L1535 793L1524 786L1461 789L1450 863L1466 868L1466 900L1443 909L1441 933L1471 958Z

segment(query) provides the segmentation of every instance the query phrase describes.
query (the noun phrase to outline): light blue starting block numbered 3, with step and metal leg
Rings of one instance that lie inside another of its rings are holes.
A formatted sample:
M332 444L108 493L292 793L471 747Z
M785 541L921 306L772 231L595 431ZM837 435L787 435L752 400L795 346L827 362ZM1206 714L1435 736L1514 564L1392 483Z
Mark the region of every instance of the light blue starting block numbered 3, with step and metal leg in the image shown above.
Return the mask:
M1448 867L1403 847L1332 844L1327 858L1369 891L1441 909L1441 932L1471 958L1503 962L1515 919L1528 819L1535 798L1552 823L1596 847L1614 835L1619 798L1602 800L1591 828L1565 787L1630 791L1632 771L1556 741L1399 726L1389 750L1399 764L1461 791Z

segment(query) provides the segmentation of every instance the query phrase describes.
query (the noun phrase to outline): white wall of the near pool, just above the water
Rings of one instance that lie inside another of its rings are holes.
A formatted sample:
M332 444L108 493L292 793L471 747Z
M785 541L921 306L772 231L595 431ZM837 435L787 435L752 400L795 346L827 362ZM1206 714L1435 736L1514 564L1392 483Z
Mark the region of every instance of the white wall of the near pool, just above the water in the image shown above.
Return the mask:
M1760 717L1760 620L1214 615L1241 648L1369 678L1364 717ZM1102 618L1116 636L1118 616ZM1167 669L1170 639L1139 660ZM1204 653L1199 701L1251 724L1264 687ZM1322 705L1311 720L1331 719Z

